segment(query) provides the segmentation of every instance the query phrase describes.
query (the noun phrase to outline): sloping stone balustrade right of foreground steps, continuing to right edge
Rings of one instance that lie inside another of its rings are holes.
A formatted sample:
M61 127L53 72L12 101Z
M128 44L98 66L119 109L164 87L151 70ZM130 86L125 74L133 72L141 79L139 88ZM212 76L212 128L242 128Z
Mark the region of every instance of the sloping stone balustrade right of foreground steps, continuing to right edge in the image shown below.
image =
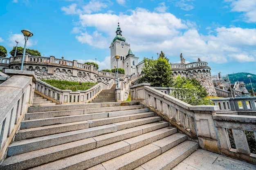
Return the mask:
M149 85L142 83L131 86L131 99L141 102L180 131L198 141L201 148L256 163L256 155L251 153L248 144L241 144L245 142L244 130L249 130L254 133L254 136L256 135L255 116L230 115L232 113L228 112L226 115L217 114L218 106L191 106ZM253 105L252 108L254 108ZM228 128L235 132L236 145L241 144L236 150L230 147Z

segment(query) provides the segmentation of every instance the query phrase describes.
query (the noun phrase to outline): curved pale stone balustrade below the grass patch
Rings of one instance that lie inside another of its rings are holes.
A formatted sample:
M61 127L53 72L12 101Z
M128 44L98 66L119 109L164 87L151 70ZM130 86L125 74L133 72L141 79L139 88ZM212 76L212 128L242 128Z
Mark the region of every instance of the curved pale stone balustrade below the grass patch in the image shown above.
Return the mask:
M108 83L99 82L86 91L71 91L61 90L41 80L38 80L35 86L35 93L38 93L39 95L42 95L43 97L56 102L57 104L88 103L103 89L110 89L114 83L115 80L111 79Z

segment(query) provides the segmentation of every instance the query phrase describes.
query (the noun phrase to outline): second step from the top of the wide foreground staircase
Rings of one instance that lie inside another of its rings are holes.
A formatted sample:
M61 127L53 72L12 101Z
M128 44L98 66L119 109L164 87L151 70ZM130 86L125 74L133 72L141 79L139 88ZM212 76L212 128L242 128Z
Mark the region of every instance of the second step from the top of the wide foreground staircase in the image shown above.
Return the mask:
M143 105L132 105L132 106L122 106L122 107L115 106L115 107L109 107L109 108L103 107L103 108L85 108L85 109L75 109L75 110L45 111L45 112L26 113L25 120L71 116L71 115L83 115L83 114L89 114L89 113L118 112L118 111L120 111L120 114L121 114L121 111L123 110L135 111L135 109L136 110L144 109L144 111L141 110L140 112L135 112L135 113L147 112L149 110L148 108L144 108Z

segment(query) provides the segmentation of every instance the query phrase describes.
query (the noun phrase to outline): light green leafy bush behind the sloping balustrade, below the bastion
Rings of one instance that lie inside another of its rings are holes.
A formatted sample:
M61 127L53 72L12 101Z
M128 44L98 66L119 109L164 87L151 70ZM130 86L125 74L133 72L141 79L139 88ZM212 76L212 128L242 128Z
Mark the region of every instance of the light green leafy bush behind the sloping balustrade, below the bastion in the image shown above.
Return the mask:
M178 76L175 79L173 92L170 95L191 105L211 104L209 99L205 99L207 96L206 89L194 78L181 78Z

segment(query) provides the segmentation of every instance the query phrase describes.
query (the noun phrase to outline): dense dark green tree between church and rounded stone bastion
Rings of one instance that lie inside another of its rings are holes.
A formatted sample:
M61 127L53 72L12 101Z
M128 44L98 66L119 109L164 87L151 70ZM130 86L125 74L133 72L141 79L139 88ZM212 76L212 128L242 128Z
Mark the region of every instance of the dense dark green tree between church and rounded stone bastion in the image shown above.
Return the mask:
M146 82L155 87L170 87L173 82L171 65L164 57L159 57L157 60L144 58L141 72L144 75L139 78L139 83Z

